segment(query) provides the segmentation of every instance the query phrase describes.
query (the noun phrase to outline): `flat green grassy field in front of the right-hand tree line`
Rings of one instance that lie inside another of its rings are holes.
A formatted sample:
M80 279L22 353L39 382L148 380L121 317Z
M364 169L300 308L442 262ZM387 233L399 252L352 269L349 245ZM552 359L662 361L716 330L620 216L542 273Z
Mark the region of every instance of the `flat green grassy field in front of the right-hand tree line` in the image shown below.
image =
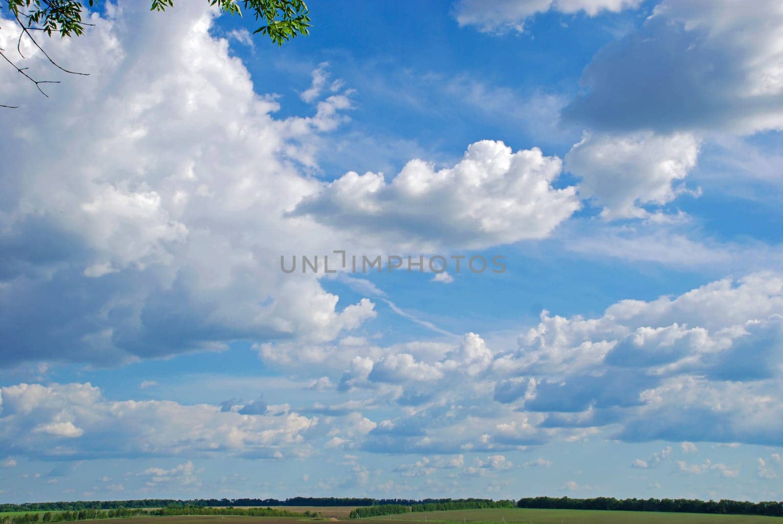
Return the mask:
M586 511L572 509L467 509L381 515L369 520L413 522L525 522L532 524L783 524L779 517L755 515L709 515L703 513L658 513L654 511ZM368 520L368 519L364 519ZM378 524L381 524L380 522Z

